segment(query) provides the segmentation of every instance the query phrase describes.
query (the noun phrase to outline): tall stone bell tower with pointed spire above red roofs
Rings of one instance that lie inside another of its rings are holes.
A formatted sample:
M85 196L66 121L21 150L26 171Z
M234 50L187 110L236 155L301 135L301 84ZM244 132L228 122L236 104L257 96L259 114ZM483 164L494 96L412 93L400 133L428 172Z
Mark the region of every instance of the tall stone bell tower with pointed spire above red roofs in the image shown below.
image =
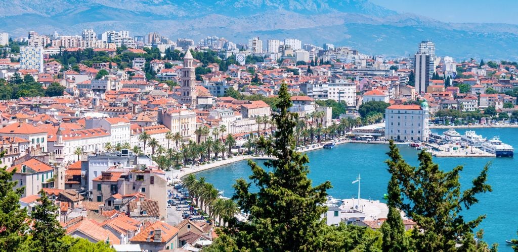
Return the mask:
M183 68L180 87L180 103L196 106L196 68L191 50L183 57Z

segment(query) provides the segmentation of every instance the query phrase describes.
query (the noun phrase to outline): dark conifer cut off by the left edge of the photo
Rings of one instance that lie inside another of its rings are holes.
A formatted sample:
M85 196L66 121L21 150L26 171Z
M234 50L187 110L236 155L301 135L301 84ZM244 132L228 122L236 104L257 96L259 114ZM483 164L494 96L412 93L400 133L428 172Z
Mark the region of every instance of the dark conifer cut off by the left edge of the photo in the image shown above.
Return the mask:
M0 160L3 156L1 152ZM0 168L0 251L18 251L27 240L27 235L20 234L28 230L27 210L19 204L24 189L13 190L18 183L11 181L15 171L8 172L6 168Z

